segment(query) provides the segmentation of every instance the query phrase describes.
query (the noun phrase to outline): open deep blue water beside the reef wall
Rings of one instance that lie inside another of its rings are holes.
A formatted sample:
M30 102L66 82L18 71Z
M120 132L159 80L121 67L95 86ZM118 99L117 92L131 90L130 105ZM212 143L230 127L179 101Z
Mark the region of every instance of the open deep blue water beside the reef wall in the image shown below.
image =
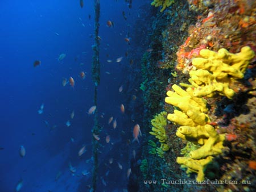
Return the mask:
M123 65L129 65L125 59L129 45L124 38L133 30L128 24L133 26L139 19L138 7L144 2L134 1L133 9L129 9L124 0L101 1L98 111L105 115L100 119L103 130L98 191L121 191L127 187L128 152L131 149L118 148L115 143L121 141L122 131L133 139L132 125L135 122L123 123L130 117L119 110L126 95L119 93L118 88L124 82ZM91 185L94 116L88 115L87 111L93 106L94 96L90 71L94 6L93 1L84 1L84 4L81 9L78 0L0 2L0 191L15 191L20 180L23 181L20 191L90 189L86 185ZM123 19L122 11L126 12L127 21ZM113 28L106 26L107 20L114 22ZM66 57L58 61L61 53ZM115 62L117 57L124 57L121 64ZM108 63L107 59L113 62ZM40 60L41 65L34 67L35 60ZM84 65L80 65L81 62ZM79 76L81 71L86 72L84 80ZM74 88L69 84L62 85L63 78L69 77L75 80ZM126 85L123 89L125 91ZM43 114L38 114L42 103ZM75 111L73 119L70 118L72 111ZM117 119L115 130L108 125L110 116ZM70 127L65 125L68 120ZM111 136L113 145L106 144L106 135ZM24 157L19 155L20 145L26 148ZM78 157L83 145L87 151ZM114 162L110 165L111 157ZM69 171L69 162L76 168L76 173ZM122 164L122 170L117 162ZM88 176L82 176L84 170L89 172Z

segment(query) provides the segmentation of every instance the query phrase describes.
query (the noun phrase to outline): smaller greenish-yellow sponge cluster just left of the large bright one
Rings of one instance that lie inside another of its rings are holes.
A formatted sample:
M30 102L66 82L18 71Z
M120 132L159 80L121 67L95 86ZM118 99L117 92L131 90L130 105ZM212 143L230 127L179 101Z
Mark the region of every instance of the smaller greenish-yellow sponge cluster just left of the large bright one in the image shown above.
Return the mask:
M170 147L167 145L167 135L165 127L167 125L166 121L167 112L163 111L160 114L156 115L154 119L151 120L152 131L151 135L154 135L156 139L161 143L160 148L156 148L156 152L159 156L163 156L164 151L168 151Z

